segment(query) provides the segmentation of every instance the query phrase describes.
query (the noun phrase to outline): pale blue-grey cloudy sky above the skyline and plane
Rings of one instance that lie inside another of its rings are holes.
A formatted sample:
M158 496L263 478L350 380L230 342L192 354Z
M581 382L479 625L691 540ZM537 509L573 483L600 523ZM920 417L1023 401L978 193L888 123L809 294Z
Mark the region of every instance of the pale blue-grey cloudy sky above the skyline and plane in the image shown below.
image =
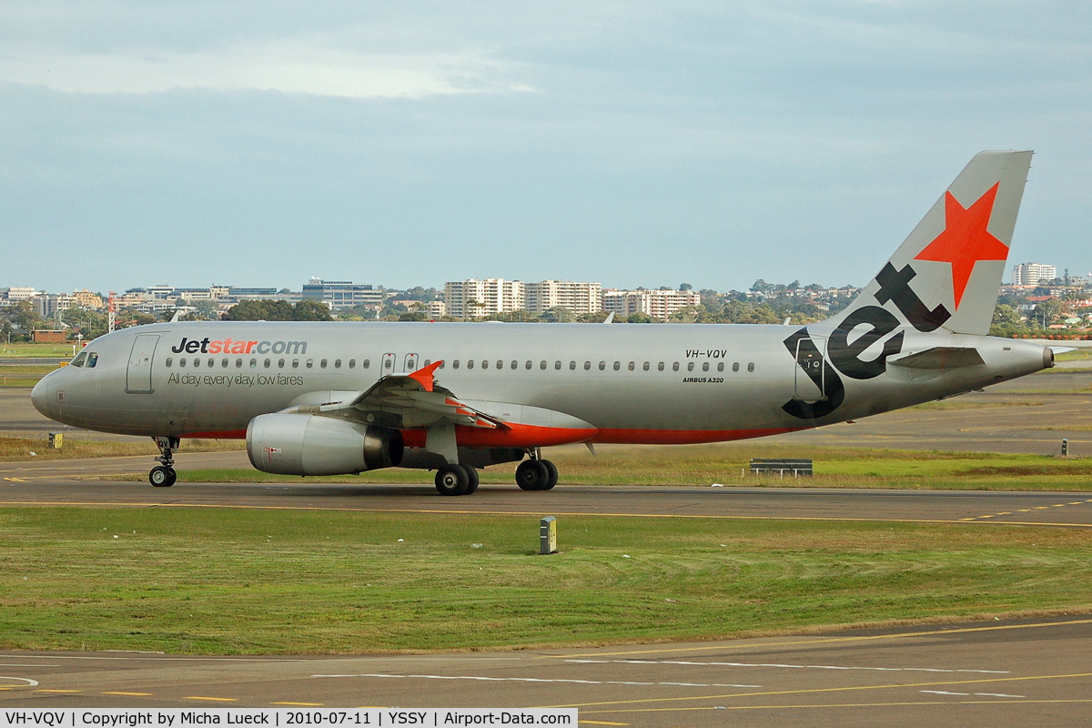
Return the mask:
M1084 2L0 1L0 286L864 284L975 153L1092 270Z

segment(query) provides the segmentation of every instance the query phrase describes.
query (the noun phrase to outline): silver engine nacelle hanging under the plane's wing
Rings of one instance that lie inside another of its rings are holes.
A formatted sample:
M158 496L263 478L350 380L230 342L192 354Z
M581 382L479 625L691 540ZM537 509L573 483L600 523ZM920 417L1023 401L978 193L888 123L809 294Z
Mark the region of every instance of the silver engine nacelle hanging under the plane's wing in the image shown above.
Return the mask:
M247 427L247 455L263 473L347 475L402 462L402 433L318 415L259 415Z

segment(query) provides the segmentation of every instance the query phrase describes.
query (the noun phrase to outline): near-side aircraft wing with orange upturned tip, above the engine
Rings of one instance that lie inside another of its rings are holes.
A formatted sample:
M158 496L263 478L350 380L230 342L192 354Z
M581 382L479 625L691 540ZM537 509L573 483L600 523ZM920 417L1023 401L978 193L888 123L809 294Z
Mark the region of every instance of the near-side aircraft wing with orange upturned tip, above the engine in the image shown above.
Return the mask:
M460 402L435 381L442 361L410 374L387 374L364 392L348 393L341 402L301 404L286 411L352 419L388 428L428 427L448 420L454 425L487 429L508 428L502 420Z

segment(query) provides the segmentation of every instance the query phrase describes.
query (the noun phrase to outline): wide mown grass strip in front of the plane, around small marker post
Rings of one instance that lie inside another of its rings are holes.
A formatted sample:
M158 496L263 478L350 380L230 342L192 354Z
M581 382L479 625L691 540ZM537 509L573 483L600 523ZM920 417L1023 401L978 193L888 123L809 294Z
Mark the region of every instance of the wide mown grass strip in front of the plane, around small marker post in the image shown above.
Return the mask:
M357 653L688 640L1092 608L1068 529L0 510L0 647Z

